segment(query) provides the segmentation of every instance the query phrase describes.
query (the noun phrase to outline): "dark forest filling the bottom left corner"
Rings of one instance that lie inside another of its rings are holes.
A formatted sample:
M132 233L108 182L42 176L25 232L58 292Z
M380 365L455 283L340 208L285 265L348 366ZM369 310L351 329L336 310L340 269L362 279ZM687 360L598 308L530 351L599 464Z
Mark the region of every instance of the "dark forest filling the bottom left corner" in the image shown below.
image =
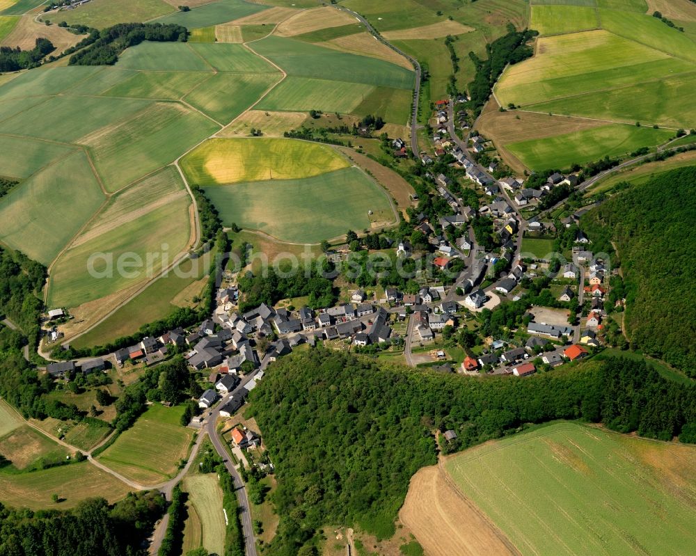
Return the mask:
M69 511L0 504L0 556L145 556L143 540L165 504L156 492L129 494L113 506L95 498Z

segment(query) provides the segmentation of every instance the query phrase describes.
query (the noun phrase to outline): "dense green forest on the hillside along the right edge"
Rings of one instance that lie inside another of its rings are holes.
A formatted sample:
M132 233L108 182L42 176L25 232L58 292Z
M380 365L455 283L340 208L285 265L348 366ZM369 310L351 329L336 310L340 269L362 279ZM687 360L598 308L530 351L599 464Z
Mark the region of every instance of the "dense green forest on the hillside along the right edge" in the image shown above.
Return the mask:
M582 224L593 251L617 248L631 346L696 377L694 191L696 166L672 170L624 189Z

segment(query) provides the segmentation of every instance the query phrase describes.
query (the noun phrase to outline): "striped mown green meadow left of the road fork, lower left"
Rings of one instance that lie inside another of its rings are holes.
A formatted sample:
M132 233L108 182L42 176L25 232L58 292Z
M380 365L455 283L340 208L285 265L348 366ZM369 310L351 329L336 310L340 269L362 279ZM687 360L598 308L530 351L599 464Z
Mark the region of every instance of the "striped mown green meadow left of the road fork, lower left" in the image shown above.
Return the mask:
M144 485L166 481L189 452L193 431L181 426L183 413L183 406L150 406L97 459Z

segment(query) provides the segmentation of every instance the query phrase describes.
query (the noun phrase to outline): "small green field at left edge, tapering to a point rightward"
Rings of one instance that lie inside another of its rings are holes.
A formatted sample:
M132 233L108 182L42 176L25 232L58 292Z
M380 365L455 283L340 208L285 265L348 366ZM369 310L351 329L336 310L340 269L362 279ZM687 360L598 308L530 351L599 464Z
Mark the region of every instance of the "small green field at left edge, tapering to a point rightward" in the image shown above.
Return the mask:
M74 150L70 145L21 137L2 136L0 141L0 174L6 177L29 177L46 164Z

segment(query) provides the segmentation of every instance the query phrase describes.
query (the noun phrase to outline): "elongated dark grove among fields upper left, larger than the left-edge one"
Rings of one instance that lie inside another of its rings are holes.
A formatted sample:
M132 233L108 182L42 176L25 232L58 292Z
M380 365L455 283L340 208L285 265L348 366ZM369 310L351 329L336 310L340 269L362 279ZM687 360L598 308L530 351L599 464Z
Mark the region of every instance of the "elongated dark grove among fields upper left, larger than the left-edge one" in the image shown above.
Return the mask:
M113 65L118 55L128 47L139 45L143 40L155 42L183 42L187 39L186 27L161 23L120 23L102 29L90 29L88 37L65 51L70 56L70 65Z

